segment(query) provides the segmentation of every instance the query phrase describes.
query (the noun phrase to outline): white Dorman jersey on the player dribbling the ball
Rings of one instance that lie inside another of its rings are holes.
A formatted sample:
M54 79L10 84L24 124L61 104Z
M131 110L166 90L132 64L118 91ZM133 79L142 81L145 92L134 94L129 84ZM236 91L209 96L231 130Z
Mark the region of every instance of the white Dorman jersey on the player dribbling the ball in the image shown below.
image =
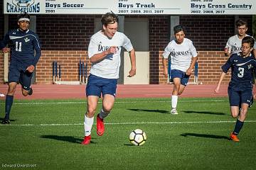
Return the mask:
M101 30L95 33L90 38L88 56L90 58L95 54L109 49L111 46L116 46L117 52L112 55L107 55L100 62L92 63L90 74L106 79L119 78L121 48L124 47L128 52L133 49L131 41L124 33L116 32L111 39L103 35Z

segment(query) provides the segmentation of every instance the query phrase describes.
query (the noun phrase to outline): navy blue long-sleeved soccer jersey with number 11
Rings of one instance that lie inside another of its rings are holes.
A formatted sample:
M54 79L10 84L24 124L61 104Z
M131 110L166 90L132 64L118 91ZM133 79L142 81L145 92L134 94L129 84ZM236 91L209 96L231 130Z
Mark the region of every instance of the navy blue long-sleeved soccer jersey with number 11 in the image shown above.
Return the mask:
M11 40L11 62L17 61L24 66L34 65L41 57L41 44L38 35L31 30L9 30L0 42L0 49ZM35 54L36 50L36 55Z

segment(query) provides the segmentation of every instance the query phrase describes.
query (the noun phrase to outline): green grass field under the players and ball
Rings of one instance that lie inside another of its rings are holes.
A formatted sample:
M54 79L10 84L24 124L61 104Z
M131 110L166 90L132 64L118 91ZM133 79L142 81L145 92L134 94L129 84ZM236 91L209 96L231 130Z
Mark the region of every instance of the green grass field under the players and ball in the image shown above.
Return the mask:
M14 101L11 125L0 125L0 169L255 169L256 106L233 142L227 98L180 98L178 115L169 114L169 98L117 99L105 134L94 125L92 143L82 146L85 104ZM4 101L0 107L3 118ZM129 142L137 128L147 135L141 147Z

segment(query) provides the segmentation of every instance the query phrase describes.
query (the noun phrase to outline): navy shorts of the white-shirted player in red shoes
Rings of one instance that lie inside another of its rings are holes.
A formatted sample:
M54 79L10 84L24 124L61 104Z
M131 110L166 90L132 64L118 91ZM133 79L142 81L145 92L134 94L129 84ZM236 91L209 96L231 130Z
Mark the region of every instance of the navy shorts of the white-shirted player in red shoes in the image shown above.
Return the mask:
M110 94L116 96L117 91L117 79L105 79L102 77L97 77L90 74L87 86L86 86L86 96L104 96L105 94Z

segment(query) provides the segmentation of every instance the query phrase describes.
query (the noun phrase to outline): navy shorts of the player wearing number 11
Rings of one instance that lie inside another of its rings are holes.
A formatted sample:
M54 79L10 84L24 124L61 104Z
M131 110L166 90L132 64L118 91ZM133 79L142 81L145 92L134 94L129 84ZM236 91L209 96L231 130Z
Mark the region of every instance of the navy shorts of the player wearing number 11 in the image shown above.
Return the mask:
M26 71L26 67L22 67L17 62L11 62L9 66L8 82L20 83L22 89L29 91L31 88L31 79L33 73Z

